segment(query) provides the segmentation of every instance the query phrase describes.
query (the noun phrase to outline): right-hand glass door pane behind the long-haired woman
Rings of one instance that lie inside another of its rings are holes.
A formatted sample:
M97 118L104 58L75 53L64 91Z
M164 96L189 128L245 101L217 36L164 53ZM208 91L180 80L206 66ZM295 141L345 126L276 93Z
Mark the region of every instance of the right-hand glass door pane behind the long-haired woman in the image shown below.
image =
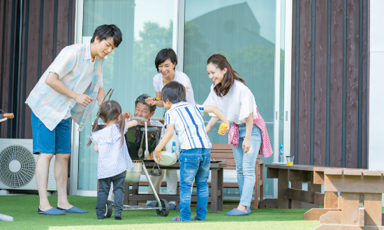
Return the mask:
M207 59L212 54L223 54L255 96L272 146L274 135L279 135L274 131L275 15L276 1L185 1L184 72L191 79L195 101L203 103L212 85ZM210 116L205 114L204 118L207 122ZM209 132L209 139L227 144L228 136L217 135L218 128L219 123ZM272 160L265 158L264 162ZM265 178L264 185L265 194L272 195L272 180Z

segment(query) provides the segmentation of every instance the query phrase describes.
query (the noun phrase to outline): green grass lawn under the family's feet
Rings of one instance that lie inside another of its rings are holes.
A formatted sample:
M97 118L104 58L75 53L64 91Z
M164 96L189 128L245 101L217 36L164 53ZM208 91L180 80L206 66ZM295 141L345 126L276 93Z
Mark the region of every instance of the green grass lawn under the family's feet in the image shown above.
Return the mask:
M57 197L48 197L50 204L57 204ZM96 197L68 196L71 204L89 211L87 214L66 213L61 216L38 215L37 195L0 196L0 213L13 217L13 222L0 222L0 229L314 229L318 221L304 221L308 209L258 209L244 217L224 215L228 208L217 214L208 209L207 220L193 222L170 222L179 215L179 210L170 210L168 217L158 217L156 210L126 210L123 220L97 220ZM192 208L195 215L195 208ZM172 224L172 225L171 225Z

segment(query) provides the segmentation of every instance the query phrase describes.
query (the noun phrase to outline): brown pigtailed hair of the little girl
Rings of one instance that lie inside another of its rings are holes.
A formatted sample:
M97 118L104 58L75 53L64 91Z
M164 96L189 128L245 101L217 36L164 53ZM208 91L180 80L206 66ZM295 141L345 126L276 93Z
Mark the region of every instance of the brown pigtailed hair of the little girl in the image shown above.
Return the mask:
M104 123L108 123L109 121L117 119L117 117L121 115L119 121L119 130L121 132L121 146L124 144L124 128L125 128L125 120L123 115L121 114L121 107L119 103L115 100L107 100L101 104L98 112L98 117L96 117L94 121L94 125L92 125L92 132L98 130L98 118L101 118ZM87 146L92 143L91 138L89 138Z

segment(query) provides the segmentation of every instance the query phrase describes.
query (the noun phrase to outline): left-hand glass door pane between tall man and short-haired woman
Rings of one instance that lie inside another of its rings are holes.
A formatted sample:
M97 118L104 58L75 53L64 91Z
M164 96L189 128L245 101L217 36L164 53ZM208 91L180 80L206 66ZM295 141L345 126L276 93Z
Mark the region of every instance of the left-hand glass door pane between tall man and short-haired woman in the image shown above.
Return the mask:
M152 79L157 74L156 54L172 47L173 0L84 0L83 13L82 43L91 40L101 24L116 24L123 33L119 47L105 57L103 82L105 92L114 89L111 100L133 114L139 95L155 95ZM98 153L93 144L85 146L97 109L80 132L77 190L97 189ZM157 108L154 117L163 117L163 113L163 108Z

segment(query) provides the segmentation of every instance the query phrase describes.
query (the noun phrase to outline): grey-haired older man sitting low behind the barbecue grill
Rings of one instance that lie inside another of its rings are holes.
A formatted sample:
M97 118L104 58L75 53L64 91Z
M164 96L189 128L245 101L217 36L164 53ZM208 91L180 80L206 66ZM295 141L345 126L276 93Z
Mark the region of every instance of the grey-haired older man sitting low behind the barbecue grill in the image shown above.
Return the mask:
M133 116L141 116L143 118L146 118L148 120L147 125L154 125L154 126L160 126L164 127L164 125L160 121L154 121L151 120L152 116L154 116L156 105L149 106L145 99L149 98L149 95L142 94L138 96L135 100L135 112ZM132 116L128 112L128 116ZM139 123L139 125L144 125L144 123ZM162 131L163 136L164 131ZM177 152L179 148L179 139L177 138L177 135L174 135L172 139L168 142L167 146L165 146L165 149L170 151L172 147L172 142L176 142L177 146ZM161 182L163 181L164 175L166 176L167 181L167 193L168 194L177 194L177 170L175 169L168 169L168 170L162 170L161 176L151 176L151 181L154 185L154 188L156 190L156 193L158 194L160 192ZM148 187L148 193L153 194L152 189ZM147 206L156 206L156 201L147 201ZM170 209L176 208L176 202L170 201Z

